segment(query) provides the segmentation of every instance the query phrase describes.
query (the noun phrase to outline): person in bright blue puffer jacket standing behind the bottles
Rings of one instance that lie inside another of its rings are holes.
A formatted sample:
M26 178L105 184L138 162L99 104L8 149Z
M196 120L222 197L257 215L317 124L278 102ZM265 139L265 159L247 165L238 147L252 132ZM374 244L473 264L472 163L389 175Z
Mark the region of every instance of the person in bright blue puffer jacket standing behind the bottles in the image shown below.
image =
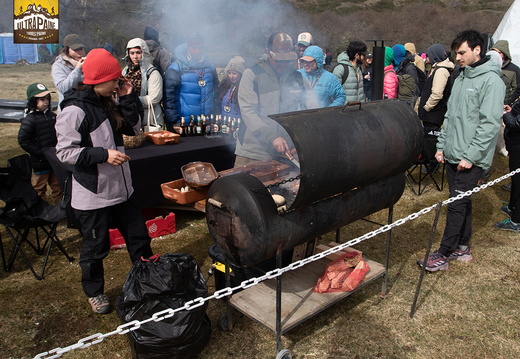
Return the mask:
M173 130L181 117L210 115L214 112L218 76L205 55L204 38L190 34L185 44L175 49L174 61L164 77L166 127Z

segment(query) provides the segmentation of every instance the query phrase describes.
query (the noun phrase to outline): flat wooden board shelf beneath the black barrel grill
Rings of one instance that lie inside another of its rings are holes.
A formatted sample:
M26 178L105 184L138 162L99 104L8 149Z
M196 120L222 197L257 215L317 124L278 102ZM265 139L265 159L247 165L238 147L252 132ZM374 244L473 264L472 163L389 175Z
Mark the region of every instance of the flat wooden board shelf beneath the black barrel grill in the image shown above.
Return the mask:
M314 293L313 287L323 274L330 259L322 258L301 268L282 275L282 329L285 333L301 322L328 308L334 303L380 278L385 273L382 264L364 258L370 266L359 286L350 292ZM251 288L231 296L231 305L264 325L276 331L276 279L263 281Z

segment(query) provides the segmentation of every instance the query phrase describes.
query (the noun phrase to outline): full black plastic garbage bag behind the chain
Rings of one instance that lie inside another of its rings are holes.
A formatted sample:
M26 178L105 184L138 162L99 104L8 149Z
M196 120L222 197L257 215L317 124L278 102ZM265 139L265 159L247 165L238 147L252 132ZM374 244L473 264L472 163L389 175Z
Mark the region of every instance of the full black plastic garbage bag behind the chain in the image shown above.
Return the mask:
M123 323L142 321L168 308L205 297L206 280L189 254L169 253L134 263L116 310ZM150 321L128 333L132 358L196 358L209 342L211 323L207 302L192 310L181 310L162 321Z

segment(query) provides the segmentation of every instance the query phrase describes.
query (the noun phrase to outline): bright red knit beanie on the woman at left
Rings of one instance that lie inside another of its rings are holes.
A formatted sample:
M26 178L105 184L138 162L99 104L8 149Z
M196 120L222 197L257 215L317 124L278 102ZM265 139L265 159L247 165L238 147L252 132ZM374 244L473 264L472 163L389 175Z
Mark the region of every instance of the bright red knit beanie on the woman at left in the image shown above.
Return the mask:
M83 63L83 83L97 85L121 77L116 58L105 49L91 50Z

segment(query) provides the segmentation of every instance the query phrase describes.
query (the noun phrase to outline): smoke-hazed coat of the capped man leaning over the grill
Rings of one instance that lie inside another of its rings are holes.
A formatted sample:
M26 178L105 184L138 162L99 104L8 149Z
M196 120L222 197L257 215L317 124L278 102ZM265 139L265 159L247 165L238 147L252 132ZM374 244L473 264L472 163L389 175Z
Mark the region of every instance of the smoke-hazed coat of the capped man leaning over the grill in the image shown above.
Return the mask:
M235 153L239 156L266 161L276 155L273 141L287 132L267 117L305 109L305 88L301 73L292 71L283 75L274 72L264 57L242 74L238 90L242 123Z

